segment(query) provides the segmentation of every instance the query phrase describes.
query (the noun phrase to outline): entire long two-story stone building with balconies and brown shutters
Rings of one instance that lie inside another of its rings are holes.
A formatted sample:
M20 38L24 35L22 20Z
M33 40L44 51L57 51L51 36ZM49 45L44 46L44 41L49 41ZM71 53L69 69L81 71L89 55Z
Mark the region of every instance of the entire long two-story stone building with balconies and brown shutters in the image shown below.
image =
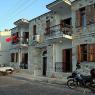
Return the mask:
M20 19L11 29L11 65L35 76L65 77L81 65L95 67L95 1L56 0L50 11L30 21ZM29 43L28 43L29 39Z

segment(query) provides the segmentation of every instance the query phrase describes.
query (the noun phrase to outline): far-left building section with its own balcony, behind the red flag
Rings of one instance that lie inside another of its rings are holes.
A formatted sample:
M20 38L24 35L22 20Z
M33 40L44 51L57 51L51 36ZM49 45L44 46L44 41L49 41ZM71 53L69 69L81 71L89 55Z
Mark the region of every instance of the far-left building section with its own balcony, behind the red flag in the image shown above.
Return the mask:
M10 64L16 69L28 69L29 21L19 19L14 24L16 27L11 29Z

